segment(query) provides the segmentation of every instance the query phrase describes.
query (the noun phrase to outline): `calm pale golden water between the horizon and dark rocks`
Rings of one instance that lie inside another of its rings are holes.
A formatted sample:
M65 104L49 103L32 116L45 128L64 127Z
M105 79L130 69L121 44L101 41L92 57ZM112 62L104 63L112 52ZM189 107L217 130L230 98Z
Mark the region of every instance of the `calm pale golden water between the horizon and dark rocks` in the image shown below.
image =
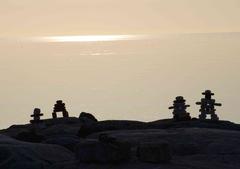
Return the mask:
M182 95L195 105L215 93L220 119L240 121L240 33L181 34L98 42L0 39L0 127L27 123L35 107L50 118L58 99L70 116L99 120L170 118Z

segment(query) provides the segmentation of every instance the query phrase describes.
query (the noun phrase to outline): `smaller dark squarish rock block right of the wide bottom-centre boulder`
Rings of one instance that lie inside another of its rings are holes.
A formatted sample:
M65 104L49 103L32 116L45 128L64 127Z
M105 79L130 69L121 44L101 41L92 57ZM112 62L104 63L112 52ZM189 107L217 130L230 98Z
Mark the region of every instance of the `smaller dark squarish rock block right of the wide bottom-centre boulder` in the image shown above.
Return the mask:
M142 162L167 163L171 160L171 152L167 143L140 143L137 147L138 159Z

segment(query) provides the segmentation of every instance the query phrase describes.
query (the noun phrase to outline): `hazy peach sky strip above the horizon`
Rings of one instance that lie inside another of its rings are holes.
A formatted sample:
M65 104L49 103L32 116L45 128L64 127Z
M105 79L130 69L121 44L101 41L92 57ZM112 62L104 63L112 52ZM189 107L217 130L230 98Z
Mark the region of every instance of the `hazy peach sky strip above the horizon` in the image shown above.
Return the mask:
M238 32L239 0L1 0L0 36Z

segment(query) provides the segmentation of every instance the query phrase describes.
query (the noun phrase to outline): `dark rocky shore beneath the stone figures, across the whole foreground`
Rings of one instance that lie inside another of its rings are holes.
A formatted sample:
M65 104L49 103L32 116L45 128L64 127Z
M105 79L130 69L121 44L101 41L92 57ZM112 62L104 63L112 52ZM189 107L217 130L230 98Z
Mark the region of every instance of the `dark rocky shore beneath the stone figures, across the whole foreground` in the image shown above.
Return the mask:
M228 121L48 119L0 131L0 168L239 169L239 145Z

